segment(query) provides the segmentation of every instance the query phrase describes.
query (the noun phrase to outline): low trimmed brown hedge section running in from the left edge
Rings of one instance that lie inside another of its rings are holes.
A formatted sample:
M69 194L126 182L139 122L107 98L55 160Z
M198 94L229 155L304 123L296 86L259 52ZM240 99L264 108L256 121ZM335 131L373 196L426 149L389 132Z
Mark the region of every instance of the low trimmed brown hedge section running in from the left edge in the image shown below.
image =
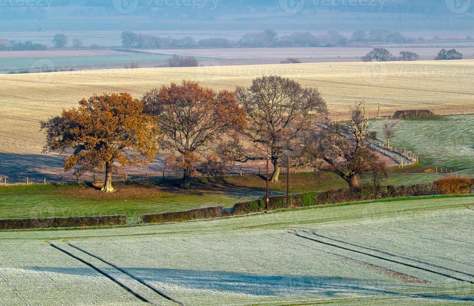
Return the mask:
M126 225L127 216L95 216L71 218L0 219L0 230L61 227L96 227Z

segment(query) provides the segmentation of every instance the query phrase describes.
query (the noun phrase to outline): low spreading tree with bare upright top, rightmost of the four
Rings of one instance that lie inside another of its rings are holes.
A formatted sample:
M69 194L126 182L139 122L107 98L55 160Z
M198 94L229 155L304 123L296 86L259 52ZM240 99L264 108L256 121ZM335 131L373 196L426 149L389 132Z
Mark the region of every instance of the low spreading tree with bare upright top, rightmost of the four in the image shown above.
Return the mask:
M361 172L384 173L385 164L368 148L369 121L363 102L350 111L348 124L328 123L308 137L299 155L300 165L329 171L344 179L354 190L359 188Z

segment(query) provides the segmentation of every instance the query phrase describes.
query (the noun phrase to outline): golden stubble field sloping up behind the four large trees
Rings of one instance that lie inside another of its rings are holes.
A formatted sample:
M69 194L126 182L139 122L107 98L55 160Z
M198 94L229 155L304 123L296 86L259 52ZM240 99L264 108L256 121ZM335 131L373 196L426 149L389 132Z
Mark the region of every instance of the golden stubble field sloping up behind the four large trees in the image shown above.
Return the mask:
M70 71L0 75L0 148L16 154L39 154L44 134L39 122L73 107L93 93L129 91L140 97L147 90L198 80L205 86L234 90L255 77L278 74L319 87L329 111L342 119L355 100L366 99L371 115L405 108L429 108L437 113L474 112L474 61L385 63L315 63L295 65L222 66Z

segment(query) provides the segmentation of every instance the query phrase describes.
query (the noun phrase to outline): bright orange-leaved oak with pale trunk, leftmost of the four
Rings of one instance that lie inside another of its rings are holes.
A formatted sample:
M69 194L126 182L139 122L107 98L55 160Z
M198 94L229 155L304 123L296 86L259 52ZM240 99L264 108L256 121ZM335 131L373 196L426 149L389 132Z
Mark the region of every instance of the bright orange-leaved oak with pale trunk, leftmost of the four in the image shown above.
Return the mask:
M94 95L78 108L41 122L46 130L43 152L66 154L64 170L75 175L105 168L102 191L113 192L112 172L118 166L146 165L157 152L154 118L128 93Z

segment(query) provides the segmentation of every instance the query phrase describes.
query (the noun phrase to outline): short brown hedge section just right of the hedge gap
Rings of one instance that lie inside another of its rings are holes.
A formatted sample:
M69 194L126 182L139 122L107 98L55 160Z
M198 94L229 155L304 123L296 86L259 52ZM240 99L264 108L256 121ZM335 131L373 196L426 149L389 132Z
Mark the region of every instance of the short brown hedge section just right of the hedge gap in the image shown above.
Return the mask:
M193 210L164 212L161 214L142 215L144 223L182 222L197 219L213 219L228 215L222 206L203 207Z

